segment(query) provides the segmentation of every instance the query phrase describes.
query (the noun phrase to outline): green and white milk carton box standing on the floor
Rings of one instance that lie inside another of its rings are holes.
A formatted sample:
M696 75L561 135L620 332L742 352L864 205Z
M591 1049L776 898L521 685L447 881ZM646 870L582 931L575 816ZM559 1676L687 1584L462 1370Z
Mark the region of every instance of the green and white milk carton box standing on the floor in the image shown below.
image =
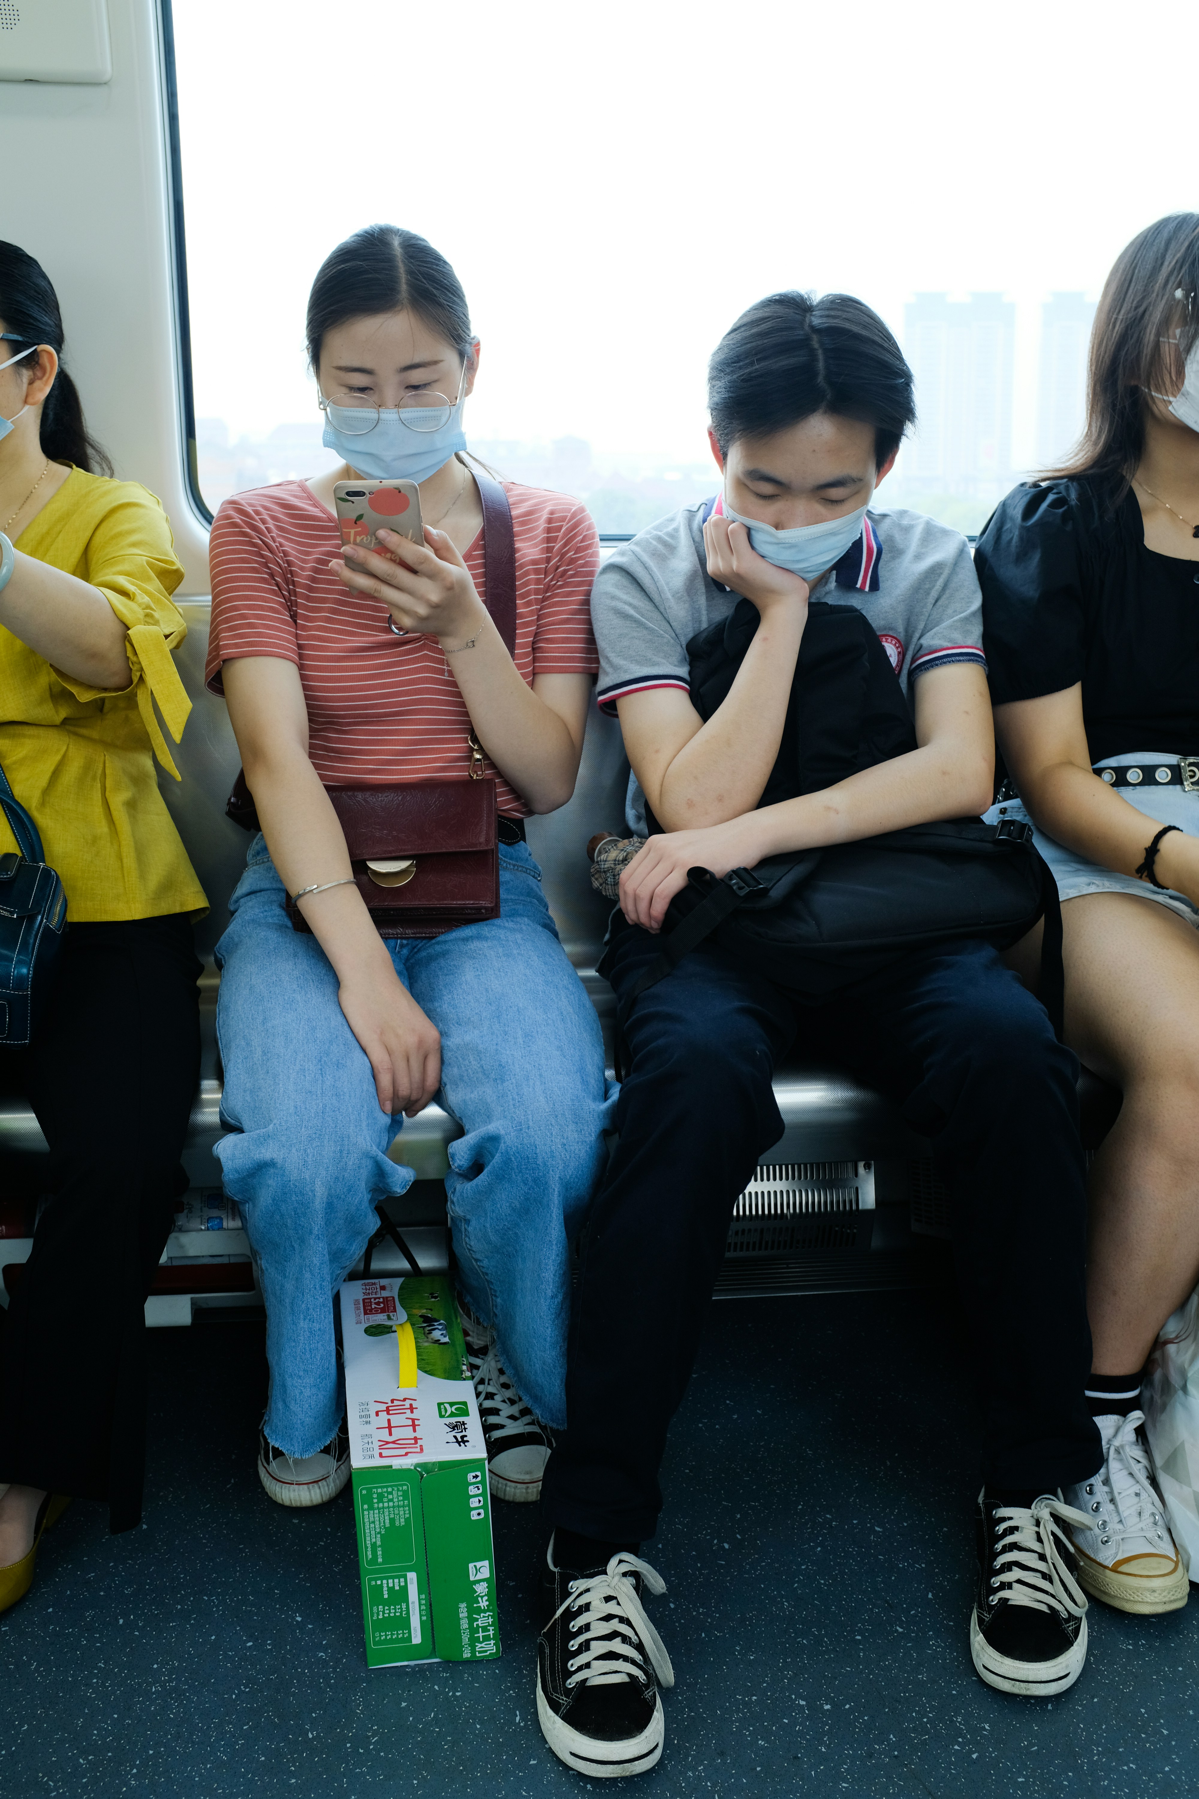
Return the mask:
M345 1281L367 1666L500 1653L487 1455L448 1275Z

